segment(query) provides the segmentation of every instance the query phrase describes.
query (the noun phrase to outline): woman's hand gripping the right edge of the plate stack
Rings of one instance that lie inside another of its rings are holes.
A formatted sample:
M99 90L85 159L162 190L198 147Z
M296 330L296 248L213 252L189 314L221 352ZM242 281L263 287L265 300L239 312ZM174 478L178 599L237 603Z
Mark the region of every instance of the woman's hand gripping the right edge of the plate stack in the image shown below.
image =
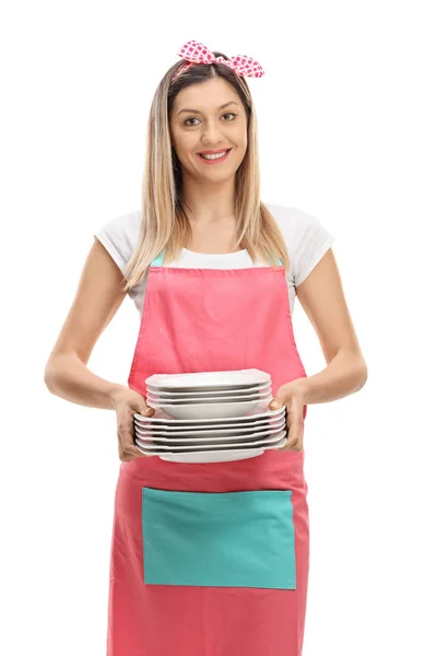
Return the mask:
M284 446L277 450L299 452L304 448L304 390L298 380L279 387L270 401L270 410L286 407L288 435Z

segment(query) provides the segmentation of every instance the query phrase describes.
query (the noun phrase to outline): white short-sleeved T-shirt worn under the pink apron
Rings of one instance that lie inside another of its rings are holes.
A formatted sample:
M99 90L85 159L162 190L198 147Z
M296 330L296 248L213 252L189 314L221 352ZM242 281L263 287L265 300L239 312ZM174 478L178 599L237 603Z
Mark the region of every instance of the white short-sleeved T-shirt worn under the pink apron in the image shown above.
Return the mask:
M270 202L264 202L264 204L276 220L288 249L291 270L286 272L286 279L290 313L293 314L296 288L304 282L328 248L331 247L335 235L330 233L316 216L307 212ZM141 210L135 210L114 216L94 233L94 236L105 246L123 274L137 246L140 227ZM247 269L268 265L267 262L252 262L246 249L211 255L193 253L184 248L177 260L165 266L188 269ZM140 315L143 308L146 284L145 277L129 292L129 296L135 304Z

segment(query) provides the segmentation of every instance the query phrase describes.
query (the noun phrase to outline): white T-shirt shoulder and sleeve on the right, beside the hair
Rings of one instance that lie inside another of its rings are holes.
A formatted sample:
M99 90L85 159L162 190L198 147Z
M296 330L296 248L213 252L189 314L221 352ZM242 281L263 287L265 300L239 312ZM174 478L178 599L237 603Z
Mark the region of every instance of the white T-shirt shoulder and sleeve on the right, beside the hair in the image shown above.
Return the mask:
M324 222L292 206L264 202L273 214L288 249L292 278L298 286L335 241Z

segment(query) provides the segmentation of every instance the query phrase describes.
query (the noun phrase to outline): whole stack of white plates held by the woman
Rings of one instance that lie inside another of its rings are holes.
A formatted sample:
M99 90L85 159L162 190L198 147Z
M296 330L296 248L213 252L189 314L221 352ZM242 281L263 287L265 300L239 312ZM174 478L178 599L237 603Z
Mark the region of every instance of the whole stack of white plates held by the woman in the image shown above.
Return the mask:
M280 448L285 406L269 410L271 383L259 370L154 374L145 385L155 414L134 414L135 445L174 462L243 460Z

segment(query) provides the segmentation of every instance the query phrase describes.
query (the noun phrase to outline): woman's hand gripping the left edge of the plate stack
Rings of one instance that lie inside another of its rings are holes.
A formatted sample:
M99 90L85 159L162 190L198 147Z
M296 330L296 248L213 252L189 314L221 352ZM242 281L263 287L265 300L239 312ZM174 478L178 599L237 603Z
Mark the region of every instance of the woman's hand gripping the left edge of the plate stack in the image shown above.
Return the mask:
M147 406L144 397L130 387L119 386L111 395L114 409L117 413L118 456L122 462L129 462L141 453L134 443L133 415L139 412L143 417L153 417L154 409ZM149 456L145 456L149 457Z

